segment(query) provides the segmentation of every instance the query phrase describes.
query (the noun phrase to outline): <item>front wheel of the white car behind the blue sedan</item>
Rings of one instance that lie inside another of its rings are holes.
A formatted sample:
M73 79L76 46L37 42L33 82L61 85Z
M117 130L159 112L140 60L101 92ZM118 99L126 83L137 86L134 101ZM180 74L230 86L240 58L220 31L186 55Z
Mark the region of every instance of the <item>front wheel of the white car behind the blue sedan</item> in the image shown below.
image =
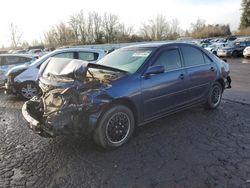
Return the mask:
M32 81L23 82L18 87L18 93L25 100L29 100L32 97L36 96L39 91L39 86Z

